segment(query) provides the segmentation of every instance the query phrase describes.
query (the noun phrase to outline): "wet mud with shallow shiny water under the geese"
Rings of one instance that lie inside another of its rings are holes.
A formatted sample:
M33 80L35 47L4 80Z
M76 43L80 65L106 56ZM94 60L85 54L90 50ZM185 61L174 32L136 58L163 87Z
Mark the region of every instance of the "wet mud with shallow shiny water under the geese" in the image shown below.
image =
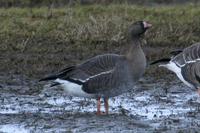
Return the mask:
M200 131L200 97L178 80L142 79L133 92L111 98L110 114L102 116L94 99L70 97L48 84L38 90L24 77L2 82L1 132Z

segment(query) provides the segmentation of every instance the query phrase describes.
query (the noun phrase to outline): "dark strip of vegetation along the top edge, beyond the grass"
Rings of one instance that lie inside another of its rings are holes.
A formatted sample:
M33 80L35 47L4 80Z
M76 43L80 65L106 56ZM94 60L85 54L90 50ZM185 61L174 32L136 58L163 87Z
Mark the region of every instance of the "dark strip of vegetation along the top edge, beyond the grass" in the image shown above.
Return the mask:
M63 7L76 4L138 4L138 5L157 5L157 4L186 4L199 3L198 0L1 0L0 7Z

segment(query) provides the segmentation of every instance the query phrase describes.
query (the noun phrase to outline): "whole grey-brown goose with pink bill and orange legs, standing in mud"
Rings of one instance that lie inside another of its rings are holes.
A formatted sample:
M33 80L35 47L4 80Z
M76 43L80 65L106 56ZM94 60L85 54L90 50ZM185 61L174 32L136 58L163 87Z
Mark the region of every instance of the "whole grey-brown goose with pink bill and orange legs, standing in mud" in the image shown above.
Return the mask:
M40 81L54 80L52 86L61 85L72 96L96 98L97 114L101 114L100 98L103 98L108 114L108 98L131 90L145 71L146 58L140 45L149 27L151 24L145 21L130 26L130 48L125 55L99 55Z

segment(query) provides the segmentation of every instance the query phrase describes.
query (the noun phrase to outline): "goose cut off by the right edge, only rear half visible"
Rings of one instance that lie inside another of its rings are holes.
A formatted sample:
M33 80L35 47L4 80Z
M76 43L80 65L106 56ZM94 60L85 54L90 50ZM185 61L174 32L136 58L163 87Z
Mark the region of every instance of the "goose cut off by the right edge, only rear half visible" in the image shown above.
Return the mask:
M168 62L159 65L174 72L177 77L191 88L196 88L200 95L200 43L193 44L184 50L173 51L173 57L152 62Z

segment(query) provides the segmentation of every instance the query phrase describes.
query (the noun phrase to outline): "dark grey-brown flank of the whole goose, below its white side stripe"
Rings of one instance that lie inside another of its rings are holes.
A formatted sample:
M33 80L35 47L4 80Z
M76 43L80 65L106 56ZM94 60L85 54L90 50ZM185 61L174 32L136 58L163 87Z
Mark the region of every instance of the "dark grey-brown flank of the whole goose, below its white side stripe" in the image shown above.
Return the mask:
M127 61L121 60L113 69L88 78L82 89L87 93L113 95L118 93L115 92L116 88L121 88L120 91L123 91L123 86L129 87L128 85L132 83L131 79Z

